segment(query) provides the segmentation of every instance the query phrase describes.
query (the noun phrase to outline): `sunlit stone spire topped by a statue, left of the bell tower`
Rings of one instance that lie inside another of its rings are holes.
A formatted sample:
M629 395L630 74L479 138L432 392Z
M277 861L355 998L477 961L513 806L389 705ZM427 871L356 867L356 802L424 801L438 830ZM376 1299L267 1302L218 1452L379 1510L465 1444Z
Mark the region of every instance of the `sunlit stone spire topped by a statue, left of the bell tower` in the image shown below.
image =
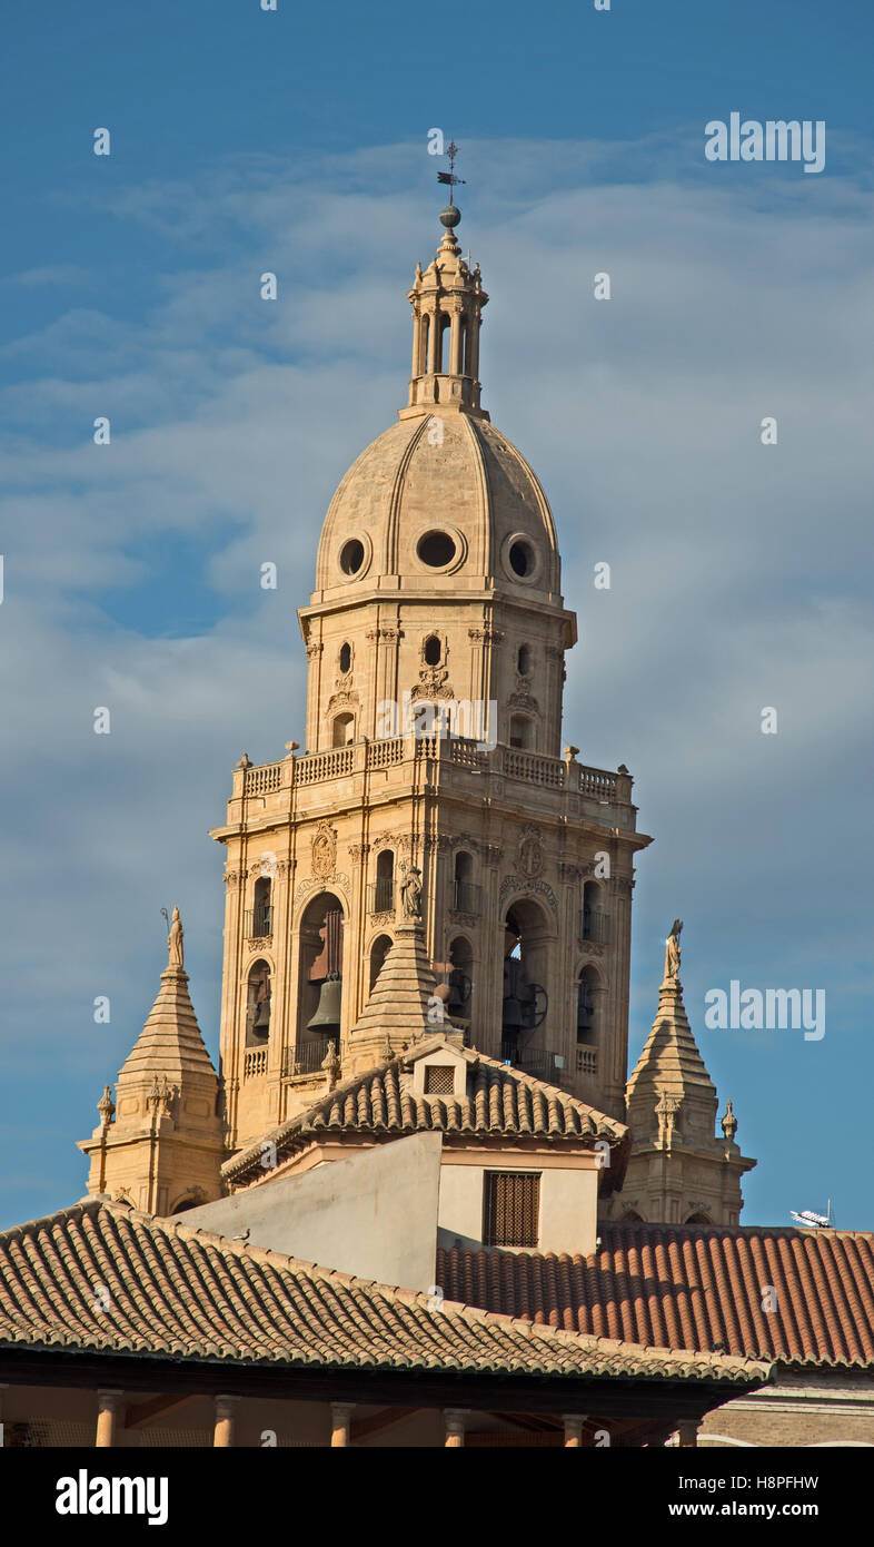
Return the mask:
M101 1122L79 1143L91 1157L90 1193L108 1191L153 1214L220 1197L224 1159L218 1075L189 996L178 908L167 950L158 998L119 1072L114 1106L107 1086Z

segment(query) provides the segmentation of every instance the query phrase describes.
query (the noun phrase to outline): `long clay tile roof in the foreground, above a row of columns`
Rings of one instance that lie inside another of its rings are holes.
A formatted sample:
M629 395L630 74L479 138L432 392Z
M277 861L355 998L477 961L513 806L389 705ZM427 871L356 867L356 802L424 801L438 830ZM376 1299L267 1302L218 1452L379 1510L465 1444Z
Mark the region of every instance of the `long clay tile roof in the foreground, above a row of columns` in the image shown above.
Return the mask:
M428 1296L415 1290L156 1221L102 1197L0 1235L0 1360L3 1349L22 1346L288 1369L744 1388L769 1377L752 1360L626 1347L452 1303L428 1309Z

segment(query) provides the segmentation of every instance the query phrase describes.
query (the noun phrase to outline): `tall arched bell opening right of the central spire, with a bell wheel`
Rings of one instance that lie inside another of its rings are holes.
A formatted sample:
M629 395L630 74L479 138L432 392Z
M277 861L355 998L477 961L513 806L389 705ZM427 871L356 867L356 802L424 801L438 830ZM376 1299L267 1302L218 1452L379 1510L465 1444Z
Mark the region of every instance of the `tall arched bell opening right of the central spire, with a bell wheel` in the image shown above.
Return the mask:
M501 1058L521 1069L546 1072L546 1054L534 1049L534 1033L549 1010L549 942L554 930L540 903L524 899L509 908L504 919L504 992L501 1013Z

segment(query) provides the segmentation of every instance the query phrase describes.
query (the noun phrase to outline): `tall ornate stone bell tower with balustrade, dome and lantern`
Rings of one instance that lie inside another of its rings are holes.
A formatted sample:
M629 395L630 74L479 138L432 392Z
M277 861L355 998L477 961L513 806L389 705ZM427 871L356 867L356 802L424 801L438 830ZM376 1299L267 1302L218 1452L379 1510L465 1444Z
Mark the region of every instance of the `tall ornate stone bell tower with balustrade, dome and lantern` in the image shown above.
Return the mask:
M407 404L342 480L299 613L306 746L243 756L212 834L232 1148L309 1101L337 1057L343 1077L371 1057L359 1021L411 885L453 1033L625 1109L633 860L650 838L628 770L562 749L577 625L552 512L481 407L489 297L458 209L439 218L408 292Z

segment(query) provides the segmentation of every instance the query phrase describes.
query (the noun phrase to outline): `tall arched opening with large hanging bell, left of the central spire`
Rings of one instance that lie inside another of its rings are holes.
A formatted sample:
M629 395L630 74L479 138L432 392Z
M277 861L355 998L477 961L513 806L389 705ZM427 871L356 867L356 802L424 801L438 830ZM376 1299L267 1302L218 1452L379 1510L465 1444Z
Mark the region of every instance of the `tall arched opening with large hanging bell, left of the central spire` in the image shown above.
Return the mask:
M297 1061L302 1072L320 1066L333 1041L340 1043L343 1002L343 905L319 893L300 919L297 992Z

